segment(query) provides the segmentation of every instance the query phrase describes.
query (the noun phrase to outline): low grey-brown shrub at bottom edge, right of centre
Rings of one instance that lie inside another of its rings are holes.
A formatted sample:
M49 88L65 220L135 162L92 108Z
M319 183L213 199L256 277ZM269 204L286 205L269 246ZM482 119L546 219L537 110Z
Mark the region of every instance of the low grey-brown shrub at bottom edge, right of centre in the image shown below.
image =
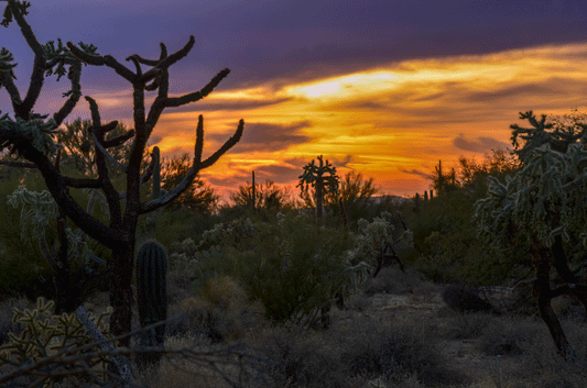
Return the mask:
M357 322L350 331L352 336L345 336L341 355L349 376L385 376L394 384L415 376L425 386L464 381L447 367L434 333L427 329Z

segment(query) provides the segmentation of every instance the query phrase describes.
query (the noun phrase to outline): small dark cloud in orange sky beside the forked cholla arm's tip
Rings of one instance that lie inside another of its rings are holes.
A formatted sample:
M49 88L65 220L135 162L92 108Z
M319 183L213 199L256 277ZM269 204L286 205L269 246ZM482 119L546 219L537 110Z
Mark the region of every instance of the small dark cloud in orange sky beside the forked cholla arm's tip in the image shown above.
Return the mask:
M247 123L238 147L231 152L246 154L286 149L292 145L308 142L311 137L302 134L302 131L309 126L308 121L293 124ZM210 137L219 142L226 141L225 134L211 134Z

